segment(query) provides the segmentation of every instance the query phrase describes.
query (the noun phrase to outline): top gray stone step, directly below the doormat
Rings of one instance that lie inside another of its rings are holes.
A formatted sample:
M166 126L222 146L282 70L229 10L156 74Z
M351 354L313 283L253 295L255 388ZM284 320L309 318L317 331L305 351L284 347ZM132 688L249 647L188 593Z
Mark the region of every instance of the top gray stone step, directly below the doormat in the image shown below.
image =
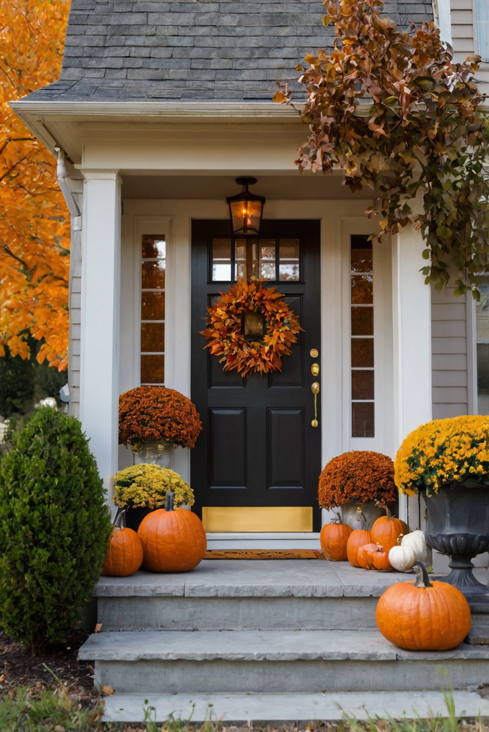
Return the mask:
M375 630L377 598L400 572L348 562L204 560L193 572L101 578L103 630Z

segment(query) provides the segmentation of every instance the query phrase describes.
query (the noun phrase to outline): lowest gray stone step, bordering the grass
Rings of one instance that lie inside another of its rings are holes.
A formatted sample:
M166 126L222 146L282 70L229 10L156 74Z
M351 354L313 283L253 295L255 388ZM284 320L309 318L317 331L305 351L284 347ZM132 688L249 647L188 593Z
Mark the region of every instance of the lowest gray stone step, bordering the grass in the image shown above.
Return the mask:
M475 691L453 692L457 717L489 717L489 701ZM152 709L150 709L152 708ZM260 722L312 722L341 720L343 714L357 720L447 717L447 703L441 691L429 692L340 692L304 694L113 694L105 698L105 722L142 722L144 710L152 720L175 719L193 722L223 720L239 724Z

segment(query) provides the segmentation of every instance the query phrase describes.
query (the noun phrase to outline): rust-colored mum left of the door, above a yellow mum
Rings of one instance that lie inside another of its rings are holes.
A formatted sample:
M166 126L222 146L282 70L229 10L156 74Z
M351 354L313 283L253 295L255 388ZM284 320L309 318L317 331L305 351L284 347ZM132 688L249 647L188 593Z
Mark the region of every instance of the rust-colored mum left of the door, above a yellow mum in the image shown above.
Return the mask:
M201 429L194 404L175 389L138 386L119 397L119 444L175 442L194 447Z

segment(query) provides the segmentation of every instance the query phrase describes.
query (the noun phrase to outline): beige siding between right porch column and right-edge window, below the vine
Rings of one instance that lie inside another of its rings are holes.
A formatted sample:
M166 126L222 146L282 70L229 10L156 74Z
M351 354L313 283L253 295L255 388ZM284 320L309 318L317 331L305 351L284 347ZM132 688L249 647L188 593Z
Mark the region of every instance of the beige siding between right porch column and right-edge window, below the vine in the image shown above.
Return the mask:
M431 290L433 419L469 413L465 296Z

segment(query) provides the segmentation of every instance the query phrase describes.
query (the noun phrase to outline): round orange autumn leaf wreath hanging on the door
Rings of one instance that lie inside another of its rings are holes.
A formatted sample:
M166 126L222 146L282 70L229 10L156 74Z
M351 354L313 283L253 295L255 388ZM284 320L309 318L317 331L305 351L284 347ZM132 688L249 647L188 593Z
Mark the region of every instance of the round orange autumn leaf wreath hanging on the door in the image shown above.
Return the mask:
M244 378L254 372L264 373L282 370L283 356L290 356L291 346L297 343L302 330L299 318L294 315L277 288L265 288L263 280L248 280L231 285L227 293L207 308L207 328L201 331L209 341L213 356L223 356L224 371L236 370ZM265 333L260 340L246 340L243 332L245 312L264 315Z

